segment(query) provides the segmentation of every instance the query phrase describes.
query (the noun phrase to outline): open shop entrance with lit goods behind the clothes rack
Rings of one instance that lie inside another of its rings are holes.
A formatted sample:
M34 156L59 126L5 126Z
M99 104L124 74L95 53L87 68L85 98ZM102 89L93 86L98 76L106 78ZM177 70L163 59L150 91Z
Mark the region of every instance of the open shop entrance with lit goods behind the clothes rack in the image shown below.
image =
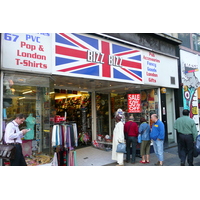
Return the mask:
M55 115L54 123L62 121L76 123L79 134L78 145L91 142L91 93L87 91L74 91L67 89L55 89ZM83 141L83 134L88 135L88 140Z

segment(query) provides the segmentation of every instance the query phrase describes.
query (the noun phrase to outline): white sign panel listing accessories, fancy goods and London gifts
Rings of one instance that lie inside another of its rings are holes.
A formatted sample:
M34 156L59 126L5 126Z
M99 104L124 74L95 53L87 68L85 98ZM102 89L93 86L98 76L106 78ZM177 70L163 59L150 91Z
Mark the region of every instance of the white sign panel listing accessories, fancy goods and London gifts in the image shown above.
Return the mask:
M143 68L144 84L178 88L177 59L143 50Z

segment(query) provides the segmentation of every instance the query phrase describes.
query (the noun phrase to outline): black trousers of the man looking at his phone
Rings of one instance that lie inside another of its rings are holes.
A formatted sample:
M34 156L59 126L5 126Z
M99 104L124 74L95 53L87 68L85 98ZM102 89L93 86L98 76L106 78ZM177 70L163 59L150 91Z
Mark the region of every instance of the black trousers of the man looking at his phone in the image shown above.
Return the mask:
M22 154L22 146L21 144L14 144L16 147L15 158L10 160L11 166L27 166L26 161L24 159L24 155Z

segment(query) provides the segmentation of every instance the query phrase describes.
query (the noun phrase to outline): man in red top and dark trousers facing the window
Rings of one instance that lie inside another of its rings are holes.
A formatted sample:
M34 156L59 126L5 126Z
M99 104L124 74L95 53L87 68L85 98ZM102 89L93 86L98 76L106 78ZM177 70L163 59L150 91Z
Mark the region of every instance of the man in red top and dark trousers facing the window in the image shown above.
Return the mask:
M137 137L138 137L138 125L133 122L134 117L130 116L129 121L125 123L124 125L124 134L126 138L126 162L130 162L130 147L132 144L132 160L131 163L135 163L135 156L136 156L136 146L137 146Z

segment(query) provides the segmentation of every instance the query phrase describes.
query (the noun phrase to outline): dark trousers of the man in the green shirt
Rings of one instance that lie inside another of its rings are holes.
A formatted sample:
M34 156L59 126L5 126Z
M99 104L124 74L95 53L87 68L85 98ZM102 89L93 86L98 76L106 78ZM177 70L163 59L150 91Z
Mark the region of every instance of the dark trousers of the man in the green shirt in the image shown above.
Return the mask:
M194 150L194 139L193 135L185 135L182 133L179 133L179 156L181 159L181 163L185 164L186 157L187 162L190 166L193 165L193 150Z

